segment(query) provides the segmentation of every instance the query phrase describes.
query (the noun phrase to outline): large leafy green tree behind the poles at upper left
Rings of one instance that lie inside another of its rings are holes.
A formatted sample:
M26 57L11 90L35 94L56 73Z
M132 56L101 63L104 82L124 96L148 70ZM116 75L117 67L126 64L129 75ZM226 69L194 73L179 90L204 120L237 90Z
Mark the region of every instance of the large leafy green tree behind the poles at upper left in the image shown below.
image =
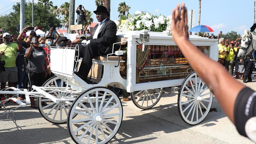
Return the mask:
M18 35L16 25L20 23L20 2L13 5L13 12L8 15L0 16L0 28L10 34ZM32 3L25 2L25 26L32 25ZM50 12L49 7L41 3L34 3L34 23L35 26L41 26L43 31L49 30L53 25L62 27L60 19L56 14Z

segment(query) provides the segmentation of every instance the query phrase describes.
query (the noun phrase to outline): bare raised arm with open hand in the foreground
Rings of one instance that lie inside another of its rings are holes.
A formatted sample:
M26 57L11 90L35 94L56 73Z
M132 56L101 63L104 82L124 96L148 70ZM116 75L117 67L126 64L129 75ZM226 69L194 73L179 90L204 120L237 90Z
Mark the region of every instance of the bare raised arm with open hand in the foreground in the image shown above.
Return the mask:
M201 53L188 39L187 8L177 4L172 11L171 32L175 43L189 64L216 96L220 106L234 123L234 105L238 93L245 87L232 78L219 63ZM230 85L232 84L232 85ZM229 88L227 89L227 86Z

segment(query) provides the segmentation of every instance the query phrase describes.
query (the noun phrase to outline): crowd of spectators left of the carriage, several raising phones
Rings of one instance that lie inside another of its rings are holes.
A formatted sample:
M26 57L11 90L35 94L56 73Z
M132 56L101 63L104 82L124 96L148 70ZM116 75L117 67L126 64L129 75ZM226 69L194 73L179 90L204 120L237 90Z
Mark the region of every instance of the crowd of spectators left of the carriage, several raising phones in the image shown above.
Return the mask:
M2 39L0 44L1 61L5 62L5 71L0 73L1 90L5 90L6 83L8 87L17 87L19 89L28 89L31 91L32 85L42 86L43 83L54 76L51 73L48 60L50 50L48 46L65 46L71 43L65 37L52 37L53 28L49 30L49 34L41 37L36 34L38 26L30 31L29 36L24 36L23 33L28 30L30 26L21 30L17 38L9 33L0 35ZM55 39L55 40L54 40ZM11 90L11 89L9 89ZM5 95L1 94L1 100L6 99ZM13 95L9 95L12 97ZM24 95L18 95L18 100L24 100ZM30 97L32 108L38 108L34 97ZM13 101L14 102L14 101ZM47 105L45 102L42 105Z

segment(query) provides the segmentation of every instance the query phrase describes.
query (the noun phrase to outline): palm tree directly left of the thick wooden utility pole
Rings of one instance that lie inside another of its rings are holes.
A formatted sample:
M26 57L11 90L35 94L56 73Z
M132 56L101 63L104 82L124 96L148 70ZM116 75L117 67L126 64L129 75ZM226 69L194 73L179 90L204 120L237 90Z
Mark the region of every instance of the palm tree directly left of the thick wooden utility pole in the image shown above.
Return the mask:
M64 19L66 20L67 30L68 30L68 26L69 26L69 23L68 23L68 19L69 19L69 3L65 2L58 9L56 9L54 11L54 13L56 13L58 17L60 15L64 15Z

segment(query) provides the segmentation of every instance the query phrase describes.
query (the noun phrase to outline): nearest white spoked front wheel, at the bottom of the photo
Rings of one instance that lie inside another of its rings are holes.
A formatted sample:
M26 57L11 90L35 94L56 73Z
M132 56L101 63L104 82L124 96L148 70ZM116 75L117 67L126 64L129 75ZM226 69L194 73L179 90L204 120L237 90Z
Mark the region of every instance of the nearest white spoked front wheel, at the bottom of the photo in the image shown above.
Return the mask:
M70 117L74 114L78 115ZM122 119L123 107L115 92L106 87L92 87L71 105L67 125L76 143L105 144L116 135Z

